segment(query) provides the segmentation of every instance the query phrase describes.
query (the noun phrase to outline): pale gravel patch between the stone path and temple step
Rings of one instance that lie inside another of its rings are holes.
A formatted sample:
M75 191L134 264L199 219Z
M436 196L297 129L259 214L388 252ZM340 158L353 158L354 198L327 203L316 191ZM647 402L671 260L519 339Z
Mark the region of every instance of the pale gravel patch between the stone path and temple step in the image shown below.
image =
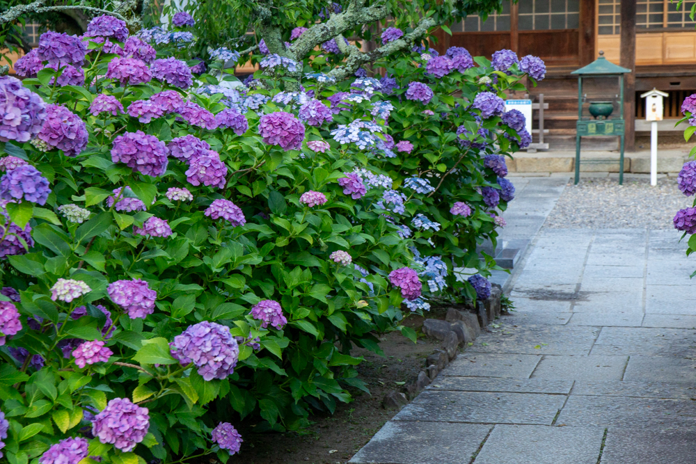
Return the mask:
M692 204L677 188L677 177L658 179L655 187L649 179L624 179L622 186L606 177L580 179L578 185L571 180L544 226L672 229L674 214Z

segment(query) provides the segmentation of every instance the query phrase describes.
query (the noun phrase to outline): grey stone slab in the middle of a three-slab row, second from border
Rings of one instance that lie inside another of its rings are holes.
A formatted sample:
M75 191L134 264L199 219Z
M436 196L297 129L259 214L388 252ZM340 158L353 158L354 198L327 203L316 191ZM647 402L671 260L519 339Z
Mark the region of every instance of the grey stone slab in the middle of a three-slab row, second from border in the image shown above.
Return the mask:
M532 378L620 381L628 356L544 356Z

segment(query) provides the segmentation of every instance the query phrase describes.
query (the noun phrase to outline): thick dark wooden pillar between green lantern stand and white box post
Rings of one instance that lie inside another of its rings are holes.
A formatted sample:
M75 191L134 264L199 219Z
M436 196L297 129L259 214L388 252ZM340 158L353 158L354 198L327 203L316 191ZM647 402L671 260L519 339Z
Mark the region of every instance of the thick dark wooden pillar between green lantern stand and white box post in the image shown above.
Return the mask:
M626 118L626 151L635 151L635 1L621 0L621 61L631 70L625 74L624 118Z

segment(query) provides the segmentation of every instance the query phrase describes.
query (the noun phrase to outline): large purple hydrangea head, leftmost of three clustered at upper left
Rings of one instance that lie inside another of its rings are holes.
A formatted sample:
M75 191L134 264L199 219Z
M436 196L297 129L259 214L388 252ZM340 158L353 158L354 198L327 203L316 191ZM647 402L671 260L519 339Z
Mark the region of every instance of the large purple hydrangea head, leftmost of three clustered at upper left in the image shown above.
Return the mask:
M113 139L111 161L125 163L133 172L157 177L167 170L167 146L143 131L126 132Z

